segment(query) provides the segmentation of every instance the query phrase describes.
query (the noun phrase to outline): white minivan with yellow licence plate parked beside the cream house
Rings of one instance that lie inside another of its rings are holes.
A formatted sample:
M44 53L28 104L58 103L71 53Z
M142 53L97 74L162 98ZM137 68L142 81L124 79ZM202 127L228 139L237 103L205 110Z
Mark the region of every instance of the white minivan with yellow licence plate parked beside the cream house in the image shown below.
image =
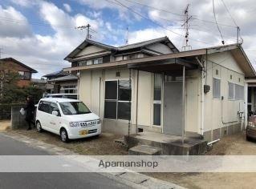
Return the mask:
M40 99L35 118L37 131L60 135L63 142L100 135L100 117L75 99Z

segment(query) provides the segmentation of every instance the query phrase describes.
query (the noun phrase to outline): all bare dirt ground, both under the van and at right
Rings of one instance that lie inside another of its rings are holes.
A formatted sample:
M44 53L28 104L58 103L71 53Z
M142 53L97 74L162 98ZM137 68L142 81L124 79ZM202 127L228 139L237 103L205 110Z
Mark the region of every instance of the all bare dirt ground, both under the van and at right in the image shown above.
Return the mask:
M1 128L6 128L10 123L0 122ZM3 130L3 129L2 129ZM59 136L47 131L38 133L35 130L11 131L18 135L26 135L33 139L42 140L45 143L52 143L59 147L65 147L81 155L128 155L128 151L114 143L120 139L120 135L104 133L99 138L89 138L62 143ZM245 133L226 136L213 145L212 151L206 155L256 155L256 142L247 142ZM235 165L234 165L235 166ZM146 173L157 179L163 179L177 183L187 188L255 188L256 173Z

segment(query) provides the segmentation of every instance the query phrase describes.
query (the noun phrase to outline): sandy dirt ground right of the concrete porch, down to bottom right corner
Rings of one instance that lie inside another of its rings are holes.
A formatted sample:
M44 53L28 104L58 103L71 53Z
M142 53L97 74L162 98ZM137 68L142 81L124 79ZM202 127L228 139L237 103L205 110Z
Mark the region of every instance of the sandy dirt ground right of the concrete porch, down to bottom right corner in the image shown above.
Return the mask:
M256 155L256 142L247 142L245 133L229 135L205 155ZM235 166L235 165L234 165ZM256 173L147 173L188 188L255 188Z

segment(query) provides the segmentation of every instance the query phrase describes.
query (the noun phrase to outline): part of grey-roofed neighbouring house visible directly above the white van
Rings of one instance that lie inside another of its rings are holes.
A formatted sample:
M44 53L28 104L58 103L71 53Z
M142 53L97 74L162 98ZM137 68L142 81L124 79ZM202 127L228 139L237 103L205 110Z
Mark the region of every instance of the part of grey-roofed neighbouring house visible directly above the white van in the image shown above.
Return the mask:
M43 75L47 78L46 92L77 94L78 77L61 71Z

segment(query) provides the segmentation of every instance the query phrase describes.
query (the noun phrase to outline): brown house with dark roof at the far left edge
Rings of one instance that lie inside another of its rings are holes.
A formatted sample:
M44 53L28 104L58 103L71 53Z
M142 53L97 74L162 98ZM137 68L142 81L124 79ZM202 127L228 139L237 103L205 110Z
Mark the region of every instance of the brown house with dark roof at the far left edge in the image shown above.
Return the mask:
M2 58L0 59L0 69L7 71L13 71L20 74L21 78L18 80L18 86L29 86L31 83L32 74L38 73L37 70L26 66L22 62L15 60L14 58Z

